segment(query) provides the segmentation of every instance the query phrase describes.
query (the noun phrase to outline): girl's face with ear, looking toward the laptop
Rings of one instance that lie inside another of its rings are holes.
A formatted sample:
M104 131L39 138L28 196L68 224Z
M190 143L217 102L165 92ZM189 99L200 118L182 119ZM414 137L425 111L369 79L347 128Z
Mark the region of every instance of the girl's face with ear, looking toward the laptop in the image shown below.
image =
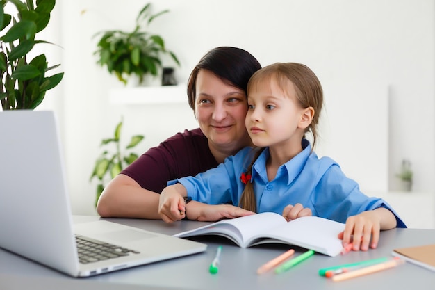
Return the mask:
M306 111L312 108L299 105L291 81L286 82L284 91L273 77L262 79L252 86L247 102L245 124L254 145L284 152L302 150L304 130L311 122L310 118L306 124Z

